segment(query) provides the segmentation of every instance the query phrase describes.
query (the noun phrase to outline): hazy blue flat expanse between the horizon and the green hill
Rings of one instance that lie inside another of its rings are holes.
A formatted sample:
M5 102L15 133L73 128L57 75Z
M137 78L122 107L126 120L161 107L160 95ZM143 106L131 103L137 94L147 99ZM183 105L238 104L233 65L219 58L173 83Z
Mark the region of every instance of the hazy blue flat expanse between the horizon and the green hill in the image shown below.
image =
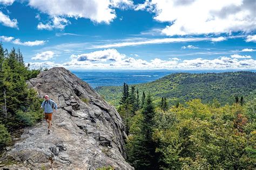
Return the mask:
M92 88L97 86L122 86L123 83L138 84L160 79L171 73L220 73L236 70L87 70L72 71ZM255 70L251 70L255 72Z

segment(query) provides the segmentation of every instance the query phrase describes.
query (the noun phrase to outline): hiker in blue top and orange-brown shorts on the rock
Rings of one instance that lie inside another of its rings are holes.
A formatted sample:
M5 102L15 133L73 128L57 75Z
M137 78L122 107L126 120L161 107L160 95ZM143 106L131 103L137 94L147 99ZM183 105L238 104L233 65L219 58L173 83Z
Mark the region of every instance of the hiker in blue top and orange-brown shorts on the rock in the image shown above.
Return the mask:
M50 128L52 125L52 112L53 112L53 108L55 108L55 112L57 112L57 104L55 102L53 102L51 99L49 99L48 95L44 96L44 101L41 104L41 108L44 109L44 117L45 117L45 121L48 122L48 133L50 133Z

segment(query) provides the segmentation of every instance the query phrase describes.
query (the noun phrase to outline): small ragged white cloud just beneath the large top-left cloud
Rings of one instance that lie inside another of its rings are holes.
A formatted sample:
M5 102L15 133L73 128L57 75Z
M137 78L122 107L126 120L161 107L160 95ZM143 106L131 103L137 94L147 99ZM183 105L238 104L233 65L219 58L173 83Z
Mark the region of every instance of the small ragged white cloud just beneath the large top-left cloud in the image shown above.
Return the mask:
M52 17L52 22L48 22L46 24L39 23L37 25L38 30L53 30L53 29L65 29L65 26L70 24L70 21L65 18L60 17Z

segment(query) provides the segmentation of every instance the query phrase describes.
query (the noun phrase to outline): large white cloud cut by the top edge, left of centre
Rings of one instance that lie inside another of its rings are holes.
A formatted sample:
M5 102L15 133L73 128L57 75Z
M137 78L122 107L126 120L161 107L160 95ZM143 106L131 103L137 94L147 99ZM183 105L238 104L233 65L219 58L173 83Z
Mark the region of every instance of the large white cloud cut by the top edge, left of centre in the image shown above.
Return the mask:
M92 22L106 24L116 18L116 13L112 8L126 9L132 4L133 2L129 0L29 0L29 5L32 8L36 8L52 17L88 18Z

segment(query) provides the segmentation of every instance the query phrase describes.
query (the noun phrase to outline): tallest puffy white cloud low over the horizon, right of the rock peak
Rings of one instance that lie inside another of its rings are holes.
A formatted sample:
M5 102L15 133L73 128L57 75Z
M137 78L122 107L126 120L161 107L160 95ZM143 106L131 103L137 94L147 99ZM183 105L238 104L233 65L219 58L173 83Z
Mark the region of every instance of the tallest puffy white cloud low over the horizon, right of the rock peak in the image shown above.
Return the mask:
M104 49L91 53L71 55L75 61L120 61L125 58L125 54L120 54L116 49Z

